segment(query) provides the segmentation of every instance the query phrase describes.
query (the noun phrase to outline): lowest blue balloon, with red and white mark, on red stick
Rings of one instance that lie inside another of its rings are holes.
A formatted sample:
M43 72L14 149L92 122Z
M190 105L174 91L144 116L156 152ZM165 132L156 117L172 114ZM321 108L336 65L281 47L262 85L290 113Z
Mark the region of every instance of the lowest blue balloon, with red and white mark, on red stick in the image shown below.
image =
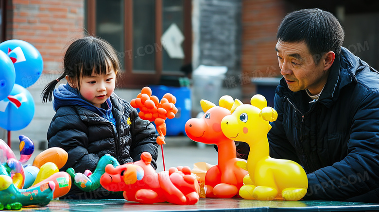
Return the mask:
M8 98L0 101L0 127L22 130L32 121L34 100L26 88L15 84Z

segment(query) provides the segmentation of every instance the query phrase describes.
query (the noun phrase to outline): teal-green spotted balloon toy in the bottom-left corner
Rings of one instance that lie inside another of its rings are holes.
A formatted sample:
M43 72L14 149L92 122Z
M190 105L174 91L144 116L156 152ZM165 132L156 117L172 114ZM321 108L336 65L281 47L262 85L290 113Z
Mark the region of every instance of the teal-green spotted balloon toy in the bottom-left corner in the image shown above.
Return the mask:
M52 200L55 184L48 181L39 186L18 189L10 177L11 168L0 164L0 210L19 210L22 206L45 206Z

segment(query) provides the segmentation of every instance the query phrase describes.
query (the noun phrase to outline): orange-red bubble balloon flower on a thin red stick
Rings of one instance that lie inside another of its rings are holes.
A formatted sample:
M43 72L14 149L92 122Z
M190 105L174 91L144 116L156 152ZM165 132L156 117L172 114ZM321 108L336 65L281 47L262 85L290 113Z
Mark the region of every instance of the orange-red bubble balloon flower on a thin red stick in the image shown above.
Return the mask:
M159 98L154 95L152 96L150 87L143 87L141 93L137 95L137 98L130 101L130 105L132 105L132 107L140 110L138 113L140 118L155 123L156 130L159 133L159 136L156 138L156 143L158 143L162 148L163 170L165 171L166 168L163 156L163 145L166 144L165 120L166 118L174 118L175 114L178 112L178 109L175 107L175 103L176 98L170 93L163 95L162 99L159 101Z

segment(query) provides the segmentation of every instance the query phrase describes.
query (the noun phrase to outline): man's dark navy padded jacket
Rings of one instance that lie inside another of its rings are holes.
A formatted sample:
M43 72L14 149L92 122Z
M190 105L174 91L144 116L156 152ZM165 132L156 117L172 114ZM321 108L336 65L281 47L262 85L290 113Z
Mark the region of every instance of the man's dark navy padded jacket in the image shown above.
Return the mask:
M276 88L270 156L308 174L304 199L379 202L379 73L342 48L320 98Z

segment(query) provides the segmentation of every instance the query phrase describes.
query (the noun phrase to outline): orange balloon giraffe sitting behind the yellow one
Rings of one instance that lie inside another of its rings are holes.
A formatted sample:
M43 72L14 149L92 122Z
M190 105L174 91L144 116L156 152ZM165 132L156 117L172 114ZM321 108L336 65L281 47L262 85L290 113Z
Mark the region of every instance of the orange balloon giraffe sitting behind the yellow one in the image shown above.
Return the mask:
M205 114L202 118L189 119L185 130L193 141L215 144L218 147L218 164L211 167L205 177L206 197L231 198L238 195L243 185L243 177L248 172L237 166L237 162L246 160L236 157L234 141L227 138L221 130L222 119L231 114L233 98L223 96L219 105L202 99L201 107Z

